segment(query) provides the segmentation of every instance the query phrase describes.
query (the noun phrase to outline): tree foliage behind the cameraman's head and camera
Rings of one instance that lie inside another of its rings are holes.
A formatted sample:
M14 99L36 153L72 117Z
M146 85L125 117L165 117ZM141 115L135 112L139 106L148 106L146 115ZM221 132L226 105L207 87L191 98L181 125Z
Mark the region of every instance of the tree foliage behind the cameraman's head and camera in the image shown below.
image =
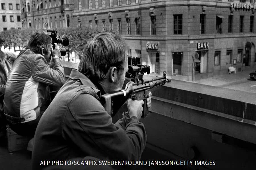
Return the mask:
M3 46L7 47L22 47L24 48L28 44L28 40L34 33L42 33L47 31L45 29L10 29L0 32L0 38L5 40ZM106 30L107 31L107 30ZM106 32L104 31L104 32ZM99 29L90 29L88 27L69 27L63 29L57 29L57 38L67 36L69 39L68 48L71 51L75 51L79 56L82 55L84 45L97 33L100 33Z

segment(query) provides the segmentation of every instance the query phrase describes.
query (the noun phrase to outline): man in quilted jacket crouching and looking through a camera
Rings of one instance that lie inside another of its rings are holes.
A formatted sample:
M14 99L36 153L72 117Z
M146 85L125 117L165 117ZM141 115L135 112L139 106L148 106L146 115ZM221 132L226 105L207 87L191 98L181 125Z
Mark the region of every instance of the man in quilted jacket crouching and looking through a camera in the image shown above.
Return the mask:
M45 110L47 85L62 86L64 69L59 46L52 49L52 39L45 33L30 37L25 50L16 58L5 88L4 112L11 129L33 137ZM50 68L47 64L51 57Z

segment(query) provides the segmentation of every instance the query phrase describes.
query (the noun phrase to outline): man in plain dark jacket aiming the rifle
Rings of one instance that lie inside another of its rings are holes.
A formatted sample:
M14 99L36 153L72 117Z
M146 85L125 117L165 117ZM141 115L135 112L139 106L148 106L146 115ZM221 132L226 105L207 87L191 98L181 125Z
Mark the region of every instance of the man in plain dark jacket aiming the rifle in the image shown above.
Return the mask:
M39 121L32 169L43 169L41 160L141 158L147 139L144 125L139 122L143 101L129 99L128 112L115 124L100 103L101 95L123 86L128 71L126 49L121 37L112 33L97 34L85 45L78 70L71 71Z

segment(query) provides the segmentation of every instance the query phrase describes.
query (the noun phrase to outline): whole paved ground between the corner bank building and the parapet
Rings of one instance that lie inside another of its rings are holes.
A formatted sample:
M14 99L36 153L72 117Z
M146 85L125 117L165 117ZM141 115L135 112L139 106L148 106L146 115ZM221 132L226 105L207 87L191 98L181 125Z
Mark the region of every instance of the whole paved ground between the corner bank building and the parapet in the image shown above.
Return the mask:
M255 69L236 72L236 74L224 74L213 76L201 80L195 80L193 82L199 84L206 84L210 86L218 86L223 88L229 88L234 90L241 90L250 93L256 93L256 81L250 80L249 73Z

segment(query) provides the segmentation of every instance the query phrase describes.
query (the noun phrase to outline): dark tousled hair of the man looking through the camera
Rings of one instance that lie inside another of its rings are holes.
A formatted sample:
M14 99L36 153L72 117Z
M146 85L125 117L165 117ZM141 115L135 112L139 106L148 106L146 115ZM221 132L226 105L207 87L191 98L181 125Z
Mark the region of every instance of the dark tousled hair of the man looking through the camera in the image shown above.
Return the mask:
M30 49L36 54L42 54L42 49L47 50L48 46L51 45L51 37L45 33L35 33L31 35L28 45L26 48Z

